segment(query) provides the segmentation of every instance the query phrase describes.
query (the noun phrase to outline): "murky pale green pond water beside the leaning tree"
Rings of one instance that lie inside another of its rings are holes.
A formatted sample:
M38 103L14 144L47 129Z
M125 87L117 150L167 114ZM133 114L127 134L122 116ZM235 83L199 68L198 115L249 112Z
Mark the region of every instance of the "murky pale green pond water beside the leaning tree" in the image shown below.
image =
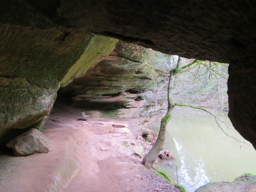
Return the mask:
M220 119L229 122L227 114L218 113ZM227 128L221 123L224 130ZM158 131L160 122L152 129ZM228 134L244 140L238 132ZM194 192L208 182L233 181L237 176L250 172L256 174L256 151L251 145L240 144L226 136L214 117L197 111L176 112L168 123L164 150L169 149L174 160L160 164L170 178Z

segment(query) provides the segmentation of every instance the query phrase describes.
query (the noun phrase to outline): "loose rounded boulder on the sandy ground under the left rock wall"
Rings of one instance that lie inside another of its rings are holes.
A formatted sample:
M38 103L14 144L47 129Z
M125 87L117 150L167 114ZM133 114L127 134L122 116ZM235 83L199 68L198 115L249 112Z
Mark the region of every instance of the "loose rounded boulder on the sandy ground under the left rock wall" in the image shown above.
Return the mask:
M27 156L33 153L48 153L50 141L37 129L30 129L27 132L10 140L6 147L12 148L13 153L18 156Z

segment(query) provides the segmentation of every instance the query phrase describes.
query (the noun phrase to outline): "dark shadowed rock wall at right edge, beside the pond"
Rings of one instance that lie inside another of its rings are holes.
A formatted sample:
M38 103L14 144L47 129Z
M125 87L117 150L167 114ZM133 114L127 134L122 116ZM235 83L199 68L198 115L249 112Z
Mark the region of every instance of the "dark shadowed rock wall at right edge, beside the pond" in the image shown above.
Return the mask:
M228 74L228 117L236 130L256 149L256 62L254 58L231 62Z

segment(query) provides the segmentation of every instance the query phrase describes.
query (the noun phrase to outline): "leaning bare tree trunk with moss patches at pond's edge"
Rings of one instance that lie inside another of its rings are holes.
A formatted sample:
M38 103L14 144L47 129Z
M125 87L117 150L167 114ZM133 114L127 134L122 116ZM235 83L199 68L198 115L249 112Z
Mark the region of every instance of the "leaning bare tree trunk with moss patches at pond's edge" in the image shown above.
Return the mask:
M151 150L144 156L144 158L142 160L142 164L144 164L146 166L146 168L148 168L148 169L150 169L152 167L152 165L156 161L156 158L157 158L160 150L162 150L162 147L164 145L166 126L172 117L172 110L175 106L173 96L172 96L173 89L174 89L174 83L175 83L175 76L181 70L180 69L181 62L182 62L182 57L179 57L176 67L170 71L170 78L169 78L169 83L168 83L168 96L167 96L168 97L168 109L167 109L165 116L161 120L160 130L158 133L158 138L156 140L156 143L151 148Z

